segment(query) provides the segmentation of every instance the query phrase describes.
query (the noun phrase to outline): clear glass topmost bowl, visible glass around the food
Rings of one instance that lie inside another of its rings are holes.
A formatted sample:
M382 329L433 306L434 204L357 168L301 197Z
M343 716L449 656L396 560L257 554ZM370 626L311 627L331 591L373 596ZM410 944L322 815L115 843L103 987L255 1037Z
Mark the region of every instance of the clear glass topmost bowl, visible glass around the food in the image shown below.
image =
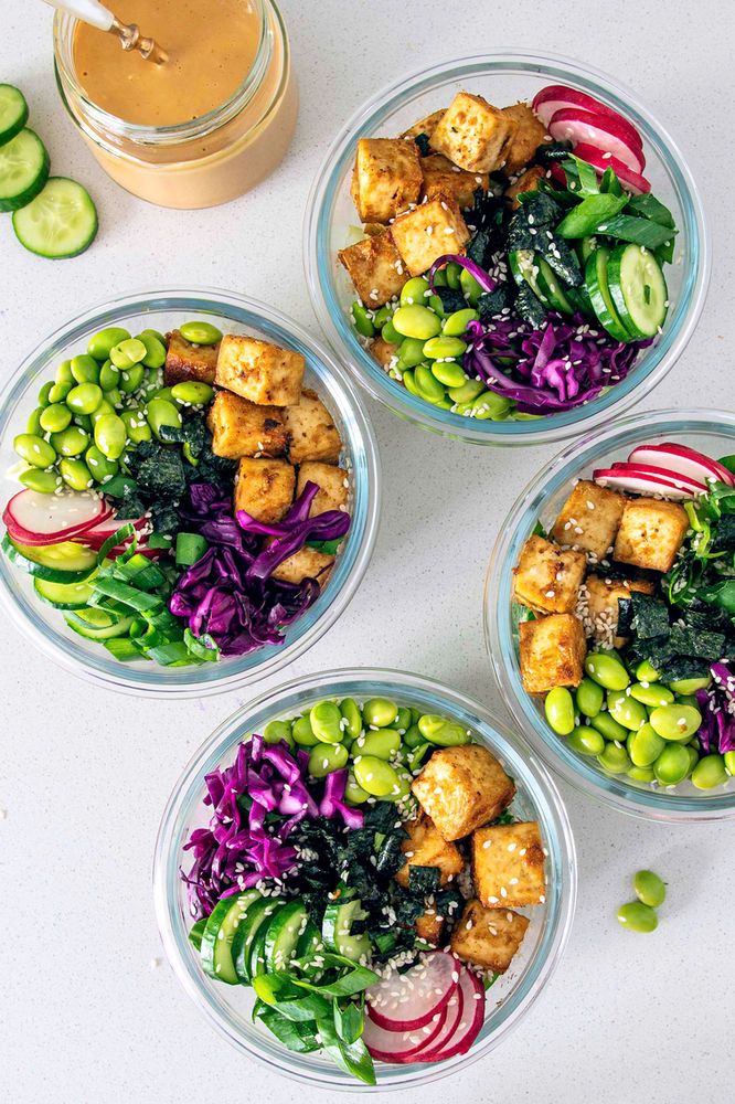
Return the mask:
M566 84L621 112L640 130L646 176L671 208L679 226L677 262L667 268L671 308L658 343L646 350L627 379L586 406L529 422L478 422L438 410L390 379L355 333L350 316L354 289L337 251L352 241L359 217L350 198L358 138L393 137L468 89L493 104L531 99L546 84ZM702 311L710 279L710 240L689 166L661 124L636 95L605 73L554 54L498 51L443 62L396 81L372 97L342 127L317 173L307 202L303 255L309 294L337 353L373 397L425 429L476 445L529 445L562 440L606 423L639 402L683 352Z

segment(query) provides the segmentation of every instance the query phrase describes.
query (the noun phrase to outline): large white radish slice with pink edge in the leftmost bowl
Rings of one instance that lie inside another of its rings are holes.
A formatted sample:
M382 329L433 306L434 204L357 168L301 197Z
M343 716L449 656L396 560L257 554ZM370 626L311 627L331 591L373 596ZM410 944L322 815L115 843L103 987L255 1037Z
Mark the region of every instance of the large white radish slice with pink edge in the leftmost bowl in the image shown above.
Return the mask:
M86 491L42 495L26 488L11 498L2 520L21 544L58 544L93 529L111 512L103 498Z

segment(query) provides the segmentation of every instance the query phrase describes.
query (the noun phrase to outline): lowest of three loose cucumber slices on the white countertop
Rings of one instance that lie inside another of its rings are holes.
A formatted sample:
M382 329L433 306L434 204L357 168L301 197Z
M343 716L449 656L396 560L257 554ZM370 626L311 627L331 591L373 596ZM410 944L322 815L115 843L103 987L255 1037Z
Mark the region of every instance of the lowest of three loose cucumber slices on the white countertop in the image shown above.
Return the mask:
M3 152L0 149L0 157ZM13 214L13 230L21 245L52 259L84 253L94 241L97 225L97 209L89 193L68 177L50 177L43 191Z

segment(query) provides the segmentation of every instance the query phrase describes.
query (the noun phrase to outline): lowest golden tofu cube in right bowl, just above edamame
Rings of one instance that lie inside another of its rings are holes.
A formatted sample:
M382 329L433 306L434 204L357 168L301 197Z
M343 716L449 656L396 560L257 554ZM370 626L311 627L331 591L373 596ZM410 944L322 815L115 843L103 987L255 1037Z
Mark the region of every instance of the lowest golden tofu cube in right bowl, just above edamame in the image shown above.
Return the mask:
M550 614L519 625L521 677L528 693L554 687L578 687L584 677L587 643L574 614Z

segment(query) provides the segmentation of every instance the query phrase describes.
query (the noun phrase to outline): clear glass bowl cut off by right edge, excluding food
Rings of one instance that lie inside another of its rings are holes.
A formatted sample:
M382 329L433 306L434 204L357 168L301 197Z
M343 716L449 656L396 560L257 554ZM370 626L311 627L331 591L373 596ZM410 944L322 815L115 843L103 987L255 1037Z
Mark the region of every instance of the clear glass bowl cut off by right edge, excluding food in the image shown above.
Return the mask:
M607 775L593 757L577 755L557 736L541 698L523 689L518 631L512 616L513 566L536 520L551 526L576 479L598 467L625 460L639 444L675 440L715 458L735 452L735 414L713 411L657 411L622 418L606 431L587 433L569 445L528 485L505 522L490 556L484 586L484 637L496 680L515 722L548 766L572 785L624 813L650 820L685 822L735 817L735 782L700 790L691 782L674 789Z

